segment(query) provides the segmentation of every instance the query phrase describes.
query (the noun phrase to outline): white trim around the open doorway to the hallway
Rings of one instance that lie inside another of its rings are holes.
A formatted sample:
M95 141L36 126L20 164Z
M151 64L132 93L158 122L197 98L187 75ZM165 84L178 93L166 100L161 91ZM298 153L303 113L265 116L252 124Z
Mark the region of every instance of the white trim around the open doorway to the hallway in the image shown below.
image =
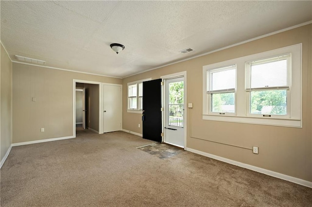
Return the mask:
M82 84L95 84L99 87L99 111L103 111L103 100L102 100L102 83L95 81L86 81L73 79L73 136L76 138L76 83ZM103 134L103 113L99 113L98 119L98 134Z

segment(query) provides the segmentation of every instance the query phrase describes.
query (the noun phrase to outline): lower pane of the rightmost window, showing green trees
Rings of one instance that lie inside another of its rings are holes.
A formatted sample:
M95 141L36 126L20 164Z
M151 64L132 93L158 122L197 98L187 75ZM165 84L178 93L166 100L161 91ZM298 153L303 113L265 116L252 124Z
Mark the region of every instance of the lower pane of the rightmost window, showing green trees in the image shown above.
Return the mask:
M251 114L287 114L287 90L262 90L250 93Z

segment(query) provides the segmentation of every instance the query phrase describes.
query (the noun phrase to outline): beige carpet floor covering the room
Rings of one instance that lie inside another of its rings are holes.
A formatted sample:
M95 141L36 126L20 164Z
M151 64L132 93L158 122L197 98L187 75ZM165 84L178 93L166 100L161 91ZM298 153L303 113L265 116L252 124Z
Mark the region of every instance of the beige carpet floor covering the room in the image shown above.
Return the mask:
M1 207L312 206L312 189L182 151L161 159L125 132L13 147Z

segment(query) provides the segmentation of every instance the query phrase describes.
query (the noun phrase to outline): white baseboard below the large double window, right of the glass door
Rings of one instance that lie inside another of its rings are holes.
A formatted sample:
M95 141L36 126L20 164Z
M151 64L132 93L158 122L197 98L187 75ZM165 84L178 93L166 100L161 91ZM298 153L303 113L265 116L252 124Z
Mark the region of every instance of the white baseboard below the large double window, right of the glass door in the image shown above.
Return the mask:
M226 163L229 163L229 164L232 164L232 165L236 165L236 166L239 166L239 167L242 167L242 168L246 168L246 169L258 172L258 173L263 173L263 174L266 174L266 175L270 175L272 177L277 177L277 178L280 178L282 180L287 180L287 181L290 181L292 183L296 183L296 184L299 184L299 185L302 185L302 186L306 186L306 187L312 188L312 182L307 181L307 180L302 180L302 179L299 179L299 178L296 178L296 177L292 177L292 176L289 176L289 175L286 175L286 174L282 174L282 173L276 173L274 171L269 171L269 170L266 170L266 169L263 169L263 168L255 167L253 165L248 165L248 164L245 164L245 163L242 163L242 162L237 162L237 161L234 161L232 159L227 159L227 158L224 158L224 157L221 157L221 156L212 155L212 154L201 152L199 150L195 150L195 149L191 149L191 148L187 148L186 150L189 151L189 152L192 152L192 153L196 153L198 155L207 156L207 157L210 157L210 158L222 161L222 162L226 162Z

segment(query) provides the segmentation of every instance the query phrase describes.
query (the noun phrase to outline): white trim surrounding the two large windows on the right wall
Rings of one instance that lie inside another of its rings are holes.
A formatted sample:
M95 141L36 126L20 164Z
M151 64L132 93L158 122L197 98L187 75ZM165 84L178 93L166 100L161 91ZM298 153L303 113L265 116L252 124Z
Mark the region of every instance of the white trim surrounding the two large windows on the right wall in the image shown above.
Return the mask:
M247 77L245 65L247 62L277 56L284 53L292 53L292 77L291 77L291 95L289 96L289 105L291 107L290 117L254 117L249 116L249 96L246 91L245 79ZM236 64L236 96L235 112L236 115L209 114L208 95L207 94L207 70ZM228 121L250 124L263 124L285 127L302 128L302 43L253 55L248 55L232 60L223 61L207 66L203 66L203 120Z

